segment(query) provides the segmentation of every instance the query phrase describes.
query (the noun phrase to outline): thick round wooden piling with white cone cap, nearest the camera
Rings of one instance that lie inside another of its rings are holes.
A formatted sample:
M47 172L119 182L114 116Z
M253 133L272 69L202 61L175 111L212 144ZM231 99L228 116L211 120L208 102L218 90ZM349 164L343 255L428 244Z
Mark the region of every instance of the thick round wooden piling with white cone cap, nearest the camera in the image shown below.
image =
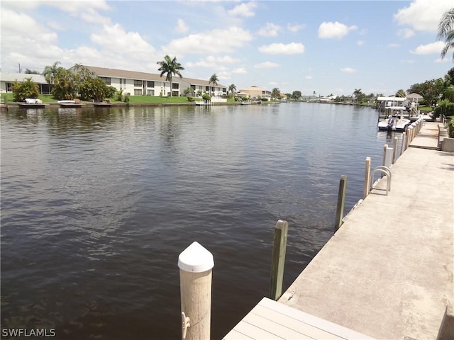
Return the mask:
M178 256L182 339L210 339L213 255L193 242Z

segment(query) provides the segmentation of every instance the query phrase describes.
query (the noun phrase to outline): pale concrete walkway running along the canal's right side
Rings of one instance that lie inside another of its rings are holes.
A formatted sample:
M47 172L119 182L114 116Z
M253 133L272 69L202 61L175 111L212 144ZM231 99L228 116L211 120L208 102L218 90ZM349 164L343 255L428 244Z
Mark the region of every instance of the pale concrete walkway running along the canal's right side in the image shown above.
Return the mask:
M454 154L413 147L431 127L279 302L376 339L437 339L454 302Z

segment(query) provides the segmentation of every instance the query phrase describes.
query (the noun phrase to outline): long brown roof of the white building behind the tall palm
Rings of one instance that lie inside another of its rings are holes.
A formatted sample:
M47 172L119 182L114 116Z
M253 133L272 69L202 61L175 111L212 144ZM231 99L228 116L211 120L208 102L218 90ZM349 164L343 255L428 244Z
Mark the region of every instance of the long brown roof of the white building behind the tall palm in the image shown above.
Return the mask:
M147 73L147 72L136 72L136 71L126 71L124 69L107 69L105 67L95 67L87 66L87 69L96 73L98 77L114 77L114 78L124 78L124 79L137 79L137 80L147 80L147 81L166 81L165 77L160 77L160 74ZM178 83L180 80L186 81L189 84L201 85L201 86L213 86L213 87L226 87L221 84L214 85L213 83L208 82L208 80L193 79L186 77L172 77L173 83Z

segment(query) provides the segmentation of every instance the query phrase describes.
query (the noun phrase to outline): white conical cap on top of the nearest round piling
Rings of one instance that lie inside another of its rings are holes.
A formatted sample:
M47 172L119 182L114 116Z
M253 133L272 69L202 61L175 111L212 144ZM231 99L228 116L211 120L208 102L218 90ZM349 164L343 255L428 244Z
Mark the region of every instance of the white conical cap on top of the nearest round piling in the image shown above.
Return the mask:
M206 250L199 242L192 242L178 256L178 267L189 273L201 273L214 267L213 254Z

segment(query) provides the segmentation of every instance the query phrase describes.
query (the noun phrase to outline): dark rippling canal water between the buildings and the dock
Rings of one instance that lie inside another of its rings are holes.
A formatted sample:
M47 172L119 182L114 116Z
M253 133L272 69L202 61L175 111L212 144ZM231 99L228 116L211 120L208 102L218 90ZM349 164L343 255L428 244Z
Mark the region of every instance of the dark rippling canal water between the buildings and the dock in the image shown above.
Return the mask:
M10 108L1 113L1 327L56 339L178 339L178 255L214 255L212 339L268 294L273 227L284 288L362 196L394 135L372 108ZM400 138L400 137L399 137Z

